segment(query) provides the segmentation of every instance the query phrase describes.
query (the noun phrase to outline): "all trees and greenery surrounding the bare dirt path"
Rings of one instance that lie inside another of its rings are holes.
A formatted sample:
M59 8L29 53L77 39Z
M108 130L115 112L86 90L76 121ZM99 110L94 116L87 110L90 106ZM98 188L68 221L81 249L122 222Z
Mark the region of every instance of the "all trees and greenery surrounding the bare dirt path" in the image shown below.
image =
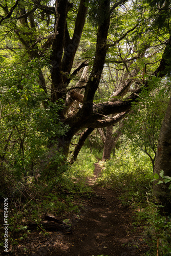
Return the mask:
M170 10L167 0L1 2L0 196L13 244L45 212L79 214L99 161L98 184L135 210L147 255L170 255Z

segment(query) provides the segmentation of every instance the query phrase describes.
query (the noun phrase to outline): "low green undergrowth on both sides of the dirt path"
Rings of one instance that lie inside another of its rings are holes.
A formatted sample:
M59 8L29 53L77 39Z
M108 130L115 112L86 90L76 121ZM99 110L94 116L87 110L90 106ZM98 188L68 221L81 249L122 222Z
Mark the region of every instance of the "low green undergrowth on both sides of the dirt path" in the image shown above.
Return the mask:
M31 176L18 182L9 202L9 236L12 243L17 244L27 236L30 220L39 225L44 235L48 234L41 226L46 212L66 222L70 213L79 215L83 207L82 196L91 195L86 178L93 176L94 163L101 157L102 153L96 148L90 150L84 146L76 162L68 166L67 172L48 182ZM149 248L145 255L171 255L171 219L161 215L161 206L154 203L153 168L148 157L138 149L135 152L130 145L121 144L115 156L105 163L99 161L99 164L102 172L97 183L116 190L121 203L132 207L135 212L134 229L143 227L144 243Z

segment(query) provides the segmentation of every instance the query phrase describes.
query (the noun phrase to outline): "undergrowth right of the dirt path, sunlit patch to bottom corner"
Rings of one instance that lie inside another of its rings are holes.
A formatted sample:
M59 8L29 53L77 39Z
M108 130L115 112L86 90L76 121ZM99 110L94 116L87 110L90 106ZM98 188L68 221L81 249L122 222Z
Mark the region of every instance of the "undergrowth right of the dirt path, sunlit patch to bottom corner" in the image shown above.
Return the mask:
M135 212L134 229L143 227L144 242L149 248L145 255L171 255L171 217L163 216L162 206L154 203L153 168L148 157L130 145L122 145L115 157L99 164L102 173L98 184L116 190L121 203Z

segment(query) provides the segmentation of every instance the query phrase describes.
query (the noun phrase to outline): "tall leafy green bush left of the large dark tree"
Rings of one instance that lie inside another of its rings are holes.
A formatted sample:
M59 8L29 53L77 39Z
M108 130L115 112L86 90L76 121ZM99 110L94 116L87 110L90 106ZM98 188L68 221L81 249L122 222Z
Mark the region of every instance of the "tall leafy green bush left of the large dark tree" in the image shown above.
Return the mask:
M39 69L45 64L45 59L33 59L25 63L25 69L14 63L1 72L0 164L1 191L5 193L8 186L12 190L11 183L17 187L15 182L26 182L27 176L42 175L45 179L67 168L61 164L65 159L60 151L47 161L48 170L45 163L44 168L40 167L48 157L49 142L57 143L54 138L65 135L67 131L58 115L63 101L51 103L38 85Z

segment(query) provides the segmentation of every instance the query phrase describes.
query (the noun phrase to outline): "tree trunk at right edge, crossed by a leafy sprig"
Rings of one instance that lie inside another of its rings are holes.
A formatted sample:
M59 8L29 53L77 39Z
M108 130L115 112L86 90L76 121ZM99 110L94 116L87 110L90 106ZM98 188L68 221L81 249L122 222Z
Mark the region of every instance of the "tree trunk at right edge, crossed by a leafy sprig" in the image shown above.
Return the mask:
M171 98L159 135L154 173L159 175L161 170L164 171L164 176L171 176ZM171 191L168 189L170 183L156 183L157 181L154 182L153 190L157 203L171 212Z

